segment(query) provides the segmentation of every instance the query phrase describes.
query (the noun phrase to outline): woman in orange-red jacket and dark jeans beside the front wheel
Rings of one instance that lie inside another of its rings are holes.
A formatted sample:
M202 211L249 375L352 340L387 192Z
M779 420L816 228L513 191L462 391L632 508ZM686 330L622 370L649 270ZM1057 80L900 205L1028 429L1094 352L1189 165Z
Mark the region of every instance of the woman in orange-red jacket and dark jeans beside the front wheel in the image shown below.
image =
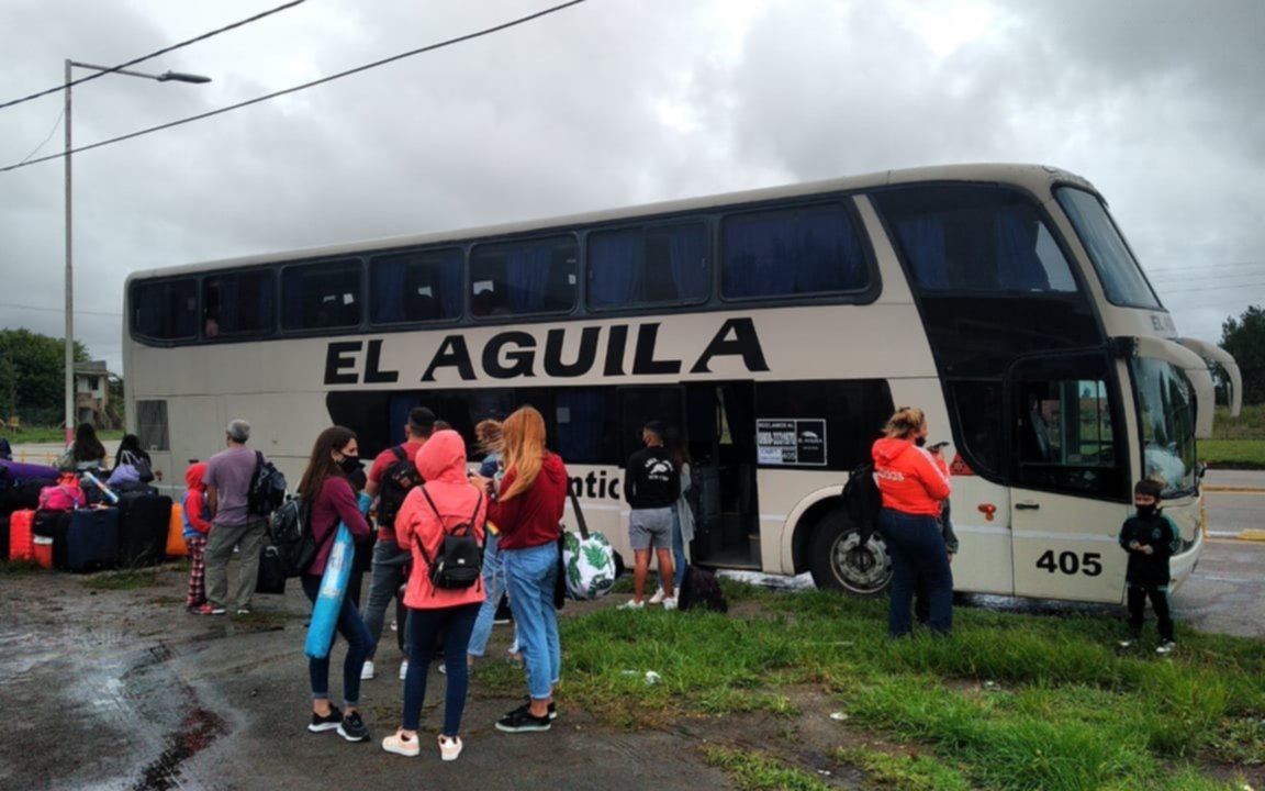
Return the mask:
M892 556L887 628L892 637L904 637L913 629L910 606L921 581L930 604L927 625L947 635L953 630L953 572L939 516L941 502L949 497L949 470L939 451L922 447L927 419L921 409L898 409L884 434L872 453L874 478L883 494L878 529Z

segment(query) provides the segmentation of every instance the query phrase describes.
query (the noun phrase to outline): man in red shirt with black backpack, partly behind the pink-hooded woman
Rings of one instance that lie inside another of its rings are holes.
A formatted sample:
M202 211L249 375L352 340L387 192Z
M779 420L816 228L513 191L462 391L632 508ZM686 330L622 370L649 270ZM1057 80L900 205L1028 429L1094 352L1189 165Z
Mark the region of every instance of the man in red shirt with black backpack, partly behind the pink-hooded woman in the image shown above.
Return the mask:
M378 499L378 539L373 544L373 562L369 567L369 599L364 605L364 625L369 629L369 656L364 661L361 678L373 678L376 668L373 658L378 642L382 639L382 623L386 620L387 606L396 597L400 587L407 581L405 567L409 563L407 548L396 543L396 514L404 505L409 490L421 481L414 459L417 451L430 438L435 428L435 413L425 406L415 406L409 411L405 424L404 444L387 448L373 459L369 467L364 492ZM410 483L411 481L411 483ZM398 624L405 630L405 656L409 654L409 625ZM409 672L409 659L400 664L400 678Z

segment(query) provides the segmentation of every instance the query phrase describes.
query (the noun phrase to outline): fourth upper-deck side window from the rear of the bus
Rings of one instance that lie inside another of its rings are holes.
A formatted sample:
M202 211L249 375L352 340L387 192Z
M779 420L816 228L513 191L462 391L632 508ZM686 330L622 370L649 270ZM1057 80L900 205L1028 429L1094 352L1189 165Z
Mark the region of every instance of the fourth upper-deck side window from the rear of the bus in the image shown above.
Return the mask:
M439 321L462 315L459 249L377 256L369 261L372 321Z

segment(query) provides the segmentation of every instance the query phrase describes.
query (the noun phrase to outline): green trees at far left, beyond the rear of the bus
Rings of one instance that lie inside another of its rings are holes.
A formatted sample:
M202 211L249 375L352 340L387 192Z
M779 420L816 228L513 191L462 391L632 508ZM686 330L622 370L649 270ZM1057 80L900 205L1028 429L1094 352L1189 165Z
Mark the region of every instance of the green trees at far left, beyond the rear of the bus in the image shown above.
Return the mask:
M87 349L75 342L75 361ZM0 329L0 404L27 423L59 423L66 404L66 347L61 338Z

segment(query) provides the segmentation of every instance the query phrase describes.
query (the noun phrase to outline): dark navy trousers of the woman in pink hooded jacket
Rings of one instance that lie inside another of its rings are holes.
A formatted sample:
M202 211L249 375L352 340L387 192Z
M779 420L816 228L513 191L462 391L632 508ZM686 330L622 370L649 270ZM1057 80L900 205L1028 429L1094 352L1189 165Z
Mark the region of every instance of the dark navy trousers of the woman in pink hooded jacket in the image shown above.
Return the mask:
M409 611L409 675L404 681L404 729L417 730L421 723L421 702L426 699L426 673L435 642L444 635L444 670L448 672L448 691L444 692L444 735L455 737L462 726L466 710L466 690L469 687L469 668L466 664L466 647L471 629L478 616L477 604L457 607Z

